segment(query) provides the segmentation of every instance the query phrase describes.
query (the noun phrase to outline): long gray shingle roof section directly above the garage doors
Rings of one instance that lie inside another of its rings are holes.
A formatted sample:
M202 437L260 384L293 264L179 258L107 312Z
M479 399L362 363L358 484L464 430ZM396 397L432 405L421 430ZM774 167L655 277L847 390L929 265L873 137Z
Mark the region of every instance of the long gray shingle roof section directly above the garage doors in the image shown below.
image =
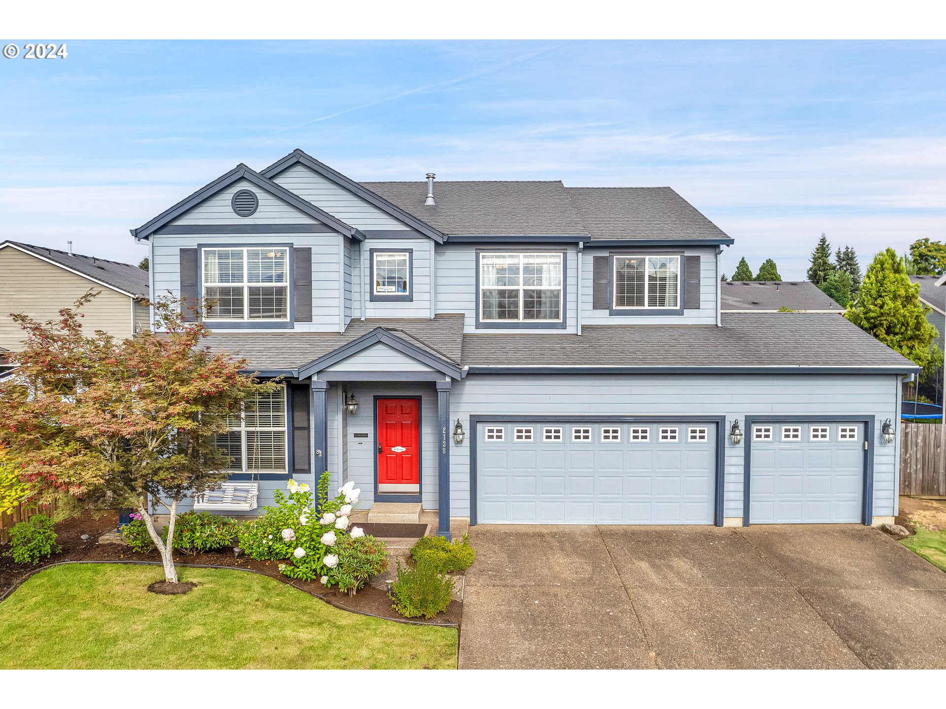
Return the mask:
M902 367L915 365L833 313L727 313L715 325L586 325L577 335L465 335L467 367Z

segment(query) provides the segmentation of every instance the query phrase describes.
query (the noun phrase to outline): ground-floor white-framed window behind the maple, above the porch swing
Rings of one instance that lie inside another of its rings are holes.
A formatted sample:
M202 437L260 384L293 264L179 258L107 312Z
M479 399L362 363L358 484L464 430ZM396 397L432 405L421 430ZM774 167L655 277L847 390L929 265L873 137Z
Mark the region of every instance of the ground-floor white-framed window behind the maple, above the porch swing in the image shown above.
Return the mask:
M259 396L253 406L227 419L230 430L217 445L233 458L228 470L240 473L285 473L287 462L286 387Z

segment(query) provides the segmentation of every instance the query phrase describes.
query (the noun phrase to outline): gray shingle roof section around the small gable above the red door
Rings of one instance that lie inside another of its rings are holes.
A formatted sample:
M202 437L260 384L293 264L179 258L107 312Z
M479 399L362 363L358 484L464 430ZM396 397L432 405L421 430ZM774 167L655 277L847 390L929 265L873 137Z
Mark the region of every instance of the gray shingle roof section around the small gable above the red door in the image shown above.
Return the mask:
M213 333L204 340L213 350L245 356L250 369L287 370L327 355L342 345L381 327L432 355L460 364L464 316L442 314L429 319L352 320L344 333Z

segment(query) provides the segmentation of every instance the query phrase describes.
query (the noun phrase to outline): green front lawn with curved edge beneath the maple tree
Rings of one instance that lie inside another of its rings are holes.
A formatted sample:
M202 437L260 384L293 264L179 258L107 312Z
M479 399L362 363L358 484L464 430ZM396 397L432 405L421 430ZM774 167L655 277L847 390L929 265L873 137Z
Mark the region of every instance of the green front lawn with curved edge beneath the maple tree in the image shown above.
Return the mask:
M146 587L160 567L67 564L0 603L0 669L455 668L457 631L340 611L258 574L179 569L184 596Z

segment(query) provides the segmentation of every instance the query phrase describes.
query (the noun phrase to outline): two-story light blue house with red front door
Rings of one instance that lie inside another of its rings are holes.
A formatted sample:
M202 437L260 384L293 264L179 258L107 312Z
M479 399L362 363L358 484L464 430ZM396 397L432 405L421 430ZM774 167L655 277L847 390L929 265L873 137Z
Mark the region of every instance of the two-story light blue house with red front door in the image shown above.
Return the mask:
M733 240L668 187L354 182L295 150L132 234L152 292L216 299L211 346L286 377L220 439L259 506L328 470L447 534L897 513L916 366L832 313L722 314Z

